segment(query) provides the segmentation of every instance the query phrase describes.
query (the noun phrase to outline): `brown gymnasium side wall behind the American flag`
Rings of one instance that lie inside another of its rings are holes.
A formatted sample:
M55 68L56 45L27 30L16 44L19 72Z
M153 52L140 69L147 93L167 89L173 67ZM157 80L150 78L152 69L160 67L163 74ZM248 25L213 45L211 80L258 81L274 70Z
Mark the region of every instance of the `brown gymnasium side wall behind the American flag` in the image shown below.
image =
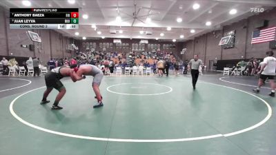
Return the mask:
M192 59L194 54L199 54L200 59L208 66L210 60L230 60L230 59L250 59L251 57L263 58L265 52L270 50L269 43L257 43L251 45L251 36L254 23L261 20L269 20L268 28L276 26L276 8L269 12L248 17L231 25L225 25L222 30L209 32L196 37L193 40L184 42L184 48L187 48L184 59ZM236 30L235 48L222 49L218 44L224 32ZM276 50L274 50L276 52Z

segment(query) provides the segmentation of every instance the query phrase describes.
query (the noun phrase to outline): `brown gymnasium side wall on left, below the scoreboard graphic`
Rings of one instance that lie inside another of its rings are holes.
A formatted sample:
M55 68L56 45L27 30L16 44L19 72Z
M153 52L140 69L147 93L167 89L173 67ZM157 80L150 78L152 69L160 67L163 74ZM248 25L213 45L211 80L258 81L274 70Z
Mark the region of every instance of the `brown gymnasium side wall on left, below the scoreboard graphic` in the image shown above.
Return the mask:
M46 64L50 57L72 56L73 53L66 50L66 45L72 43L73 40L63 37L61 33L55 30L30 30L37 32L41 37L41 43L36 43L28 38L26 31L28 30L10 30L8 10L0 6L0 57L21 56L28 58L38 56L41 63ZM30 51L29 48L21 48L21 44L34 45L34 51Z

